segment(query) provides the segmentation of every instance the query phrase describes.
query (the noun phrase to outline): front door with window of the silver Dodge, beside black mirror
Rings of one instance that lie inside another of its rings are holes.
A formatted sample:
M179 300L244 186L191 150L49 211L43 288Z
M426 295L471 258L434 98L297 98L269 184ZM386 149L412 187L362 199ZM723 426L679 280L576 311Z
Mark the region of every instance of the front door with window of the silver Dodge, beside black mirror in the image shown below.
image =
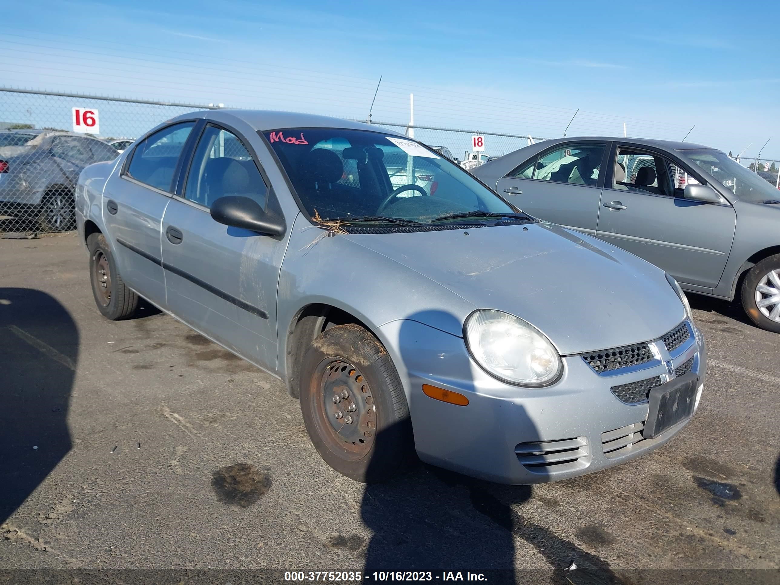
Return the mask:
M165 210L162 260L173 314L269 371L276 369L276 289L284 241L219 224L219 197L251 197L264 209L268 183L250 143L207 124L182 192ZM273 197L272 195L270 197Z

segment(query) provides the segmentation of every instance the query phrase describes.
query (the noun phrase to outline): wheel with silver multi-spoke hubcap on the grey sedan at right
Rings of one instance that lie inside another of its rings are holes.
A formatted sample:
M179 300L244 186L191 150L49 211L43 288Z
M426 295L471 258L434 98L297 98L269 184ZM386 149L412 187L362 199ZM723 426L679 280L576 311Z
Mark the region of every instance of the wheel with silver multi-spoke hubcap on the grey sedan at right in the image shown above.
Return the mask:
M750 268L742 283L741 297L750 321L762 329L780 333L780 254L764 258ZM764 307L759 307L761 301Z

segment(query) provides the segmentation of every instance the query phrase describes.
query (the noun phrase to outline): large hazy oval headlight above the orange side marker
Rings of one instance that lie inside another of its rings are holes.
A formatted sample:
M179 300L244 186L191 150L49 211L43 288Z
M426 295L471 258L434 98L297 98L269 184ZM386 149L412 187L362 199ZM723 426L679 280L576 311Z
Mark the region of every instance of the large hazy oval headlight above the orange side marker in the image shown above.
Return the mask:
M561 374L563 363L555 347L519 317L500 310L476 310L463 331L474 360L499 380L543 386Z

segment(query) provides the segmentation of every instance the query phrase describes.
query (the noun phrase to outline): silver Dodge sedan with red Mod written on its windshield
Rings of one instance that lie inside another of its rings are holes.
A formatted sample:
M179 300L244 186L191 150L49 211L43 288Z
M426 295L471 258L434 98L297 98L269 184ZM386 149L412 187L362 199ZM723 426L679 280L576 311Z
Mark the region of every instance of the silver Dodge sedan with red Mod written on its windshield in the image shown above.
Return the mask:
M182 115L87 167L76 215L101 314L144 297L279 378L355 480L413 451L509 484L602 470L668 441L704 388L673 278L377 126Z

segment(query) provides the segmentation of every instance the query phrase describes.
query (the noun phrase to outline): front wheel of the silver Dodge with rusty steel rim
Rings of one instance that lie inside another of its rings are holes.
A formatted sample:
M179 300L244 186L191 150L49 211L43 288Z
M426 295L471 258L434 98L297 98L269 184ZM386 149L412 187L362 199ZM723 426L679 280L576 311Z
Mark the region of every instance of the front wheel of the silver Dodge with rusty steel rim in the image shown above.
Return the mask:
M390 356L371 333L356 324L322 332L303 356L299 379L303 421L325 463L366 484L406 468L413 453L409 406Z

